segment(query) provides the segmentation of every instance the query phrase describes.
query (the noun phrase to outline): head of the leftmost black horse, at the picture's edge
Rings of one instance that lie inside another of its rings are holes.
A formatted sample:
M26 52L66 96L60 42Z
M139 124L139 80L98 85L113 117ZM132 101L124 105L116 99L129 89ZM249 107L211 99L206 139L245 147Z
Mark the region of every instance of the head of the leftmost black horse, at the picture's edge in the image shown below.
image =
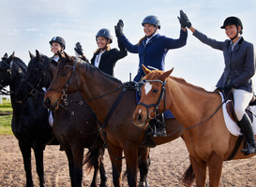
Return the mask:
M14 59L14 51L8 57L8 53L2 57L2 61L0 62L0 90L4 87L8 86L11 82L11 70Z

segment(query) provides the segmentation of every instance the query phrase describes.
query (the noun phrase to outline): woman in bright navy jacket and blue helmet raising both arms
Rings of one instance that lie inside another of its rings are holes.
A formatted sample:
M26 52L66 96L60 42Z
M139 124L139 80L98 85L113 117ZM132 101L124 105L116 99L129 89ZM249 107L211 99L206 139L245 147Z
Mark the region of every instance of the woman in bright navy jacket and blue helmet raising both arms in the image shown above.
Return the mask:
M164 70L165 56L168 50L173 50L185 46L188 37L186 27L181 27L180 37L178 39L160 36L158 34L158 29L160 29L160 22L157 16L150 15L145 17L142 24L145 36L143 36L139 43L135 45L131 44L128 41L128 38L124 35L124 22L122 20L119 20L115 26L115 34L118 41L120 41L129 52L139 53L140 64L138 73L133 79L136 82L142 81L144 77L143 65L151 70ZM153 136L166 136L164 118L162 114L158 115L149 123L152 124L152 126L157 127L156 132L153 132Z

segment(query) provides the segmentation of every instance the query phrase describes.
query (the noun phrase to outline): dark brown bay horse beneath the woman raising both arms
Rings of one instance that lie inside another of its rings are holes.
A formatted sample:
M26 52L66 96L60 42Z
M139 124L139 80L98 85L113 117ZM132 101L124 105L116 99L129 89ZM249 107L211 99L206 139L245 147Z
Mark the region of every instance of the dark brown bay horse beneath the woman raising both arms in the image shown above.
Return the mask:
M65 52L64 55L59 53L60 63L45 94L46 107L57 109L63 95L80 91L97 115L98 130L113 165L113 185L121 186L121 158L124 151L128 185L137 186L138 151L143 143L145 129L135 126L131 118L137 105L135 89L81 59L68 56ZM157 145L182 136L183 129L175 119L166 120L166 125L169 136L154 137ZM148 153L146 151L144 153Z

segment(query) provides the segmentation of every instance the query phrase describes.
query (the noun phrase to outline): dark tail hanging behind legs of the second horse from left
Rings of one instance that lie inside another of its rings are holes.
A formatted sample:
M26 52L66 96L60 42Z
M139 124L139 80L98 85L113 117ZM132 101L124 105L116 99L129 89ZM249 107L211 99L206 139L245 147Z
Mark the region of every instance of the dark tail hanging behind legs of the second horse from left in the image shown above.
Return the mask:
M83 165L86 165L86 171L90 172L92 168L98 169L103 160L104 149L89 149L84 155Z

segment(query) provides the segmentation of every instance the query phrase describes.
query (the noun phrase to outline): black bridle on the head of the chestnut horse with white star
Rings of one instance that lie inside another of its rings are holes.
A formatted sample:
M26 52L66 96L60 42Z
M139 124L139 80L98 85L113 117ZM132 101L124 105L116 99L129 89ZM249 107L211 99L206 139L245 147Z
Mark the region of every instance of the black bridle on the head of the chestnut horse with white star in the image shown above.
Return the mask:
M164 100L163 111L165 111L165 105L166 105L166 89L165 89L165 84L166 84L166 80L163 82L163 81L161 81L159 79L152 79L152 80L144 80L144 82L159 82L159 83L162 84L161 93L159 95L158 103L157 104L146 105L146 104L144 104L142 102L138 103L138 105L142 105L143 107L146 108L147 117L150 118L150 119L154 119L159 114L159 105L160 105L161 100ZM152 107L155 107L154 110L148 112L148 108L152 108ZM151 113L155 113L155 116L153 118L150 117Z

